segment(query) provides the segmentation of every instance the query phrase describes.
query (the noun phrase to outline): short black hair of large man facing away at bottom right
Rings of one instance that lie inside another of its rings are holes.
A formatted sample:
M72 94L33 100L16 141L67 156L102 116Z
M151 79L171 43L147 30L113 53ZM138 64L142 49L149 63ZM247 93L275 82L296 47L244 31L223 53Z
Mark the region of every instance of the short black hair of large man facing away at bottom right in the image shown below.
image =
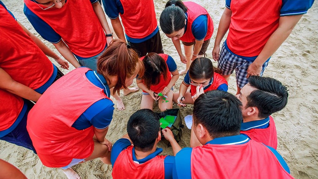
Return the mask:
M212 138L239 135L242 103L234 95L220 90L208 91L194 102L194 125L202 124Z

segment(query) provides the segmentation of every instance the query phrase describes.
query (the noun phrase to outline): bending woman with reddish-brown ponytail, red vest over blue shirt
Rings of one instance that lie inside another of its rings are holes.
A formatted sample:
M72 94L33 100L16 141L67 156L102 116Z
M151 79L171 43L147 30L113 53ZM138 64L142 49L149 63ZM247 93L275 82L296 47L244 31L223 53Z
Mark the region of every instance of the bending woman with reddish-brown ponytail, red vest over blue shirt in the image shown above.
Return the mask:
M105 139L112 120L114 92L131 85L142 62L116 39L97 62L97 71L76 68L49 87L29 112L27 130L42 163L79 178L73 165L100 158L110 164L112 143ZM139 74L142 76L142 74Z

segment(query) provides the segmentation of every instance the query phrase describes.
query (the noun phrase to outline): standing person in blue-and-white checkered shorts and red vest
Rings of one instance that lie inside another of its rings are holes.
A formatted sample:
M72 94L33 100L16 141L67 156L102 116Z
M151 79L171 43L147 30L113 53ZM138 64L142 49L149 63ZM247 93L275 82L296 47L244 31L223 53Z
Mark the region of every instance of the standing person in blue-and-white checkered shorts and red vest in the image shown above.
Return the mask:
M212 56L227 81L235 70L237 94L249 76L263 75L273 53L313 3L314 0L225 0ZM228 30L220 53L220 43Z

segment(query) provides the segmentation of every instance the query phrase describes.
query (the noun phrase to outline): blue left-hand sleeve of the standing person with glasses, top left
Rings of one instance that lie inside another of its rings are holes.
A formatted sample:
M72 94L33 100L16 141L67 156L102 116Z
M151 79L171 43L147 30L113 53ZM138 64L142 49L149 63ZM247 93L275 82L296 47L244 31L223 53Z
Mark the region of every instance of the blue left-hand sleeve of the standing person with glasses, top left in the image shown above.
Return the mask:
M61 40L61 36L56 33L50 25L35 15L25 4L24 14L43 39L51 43L58 43Z

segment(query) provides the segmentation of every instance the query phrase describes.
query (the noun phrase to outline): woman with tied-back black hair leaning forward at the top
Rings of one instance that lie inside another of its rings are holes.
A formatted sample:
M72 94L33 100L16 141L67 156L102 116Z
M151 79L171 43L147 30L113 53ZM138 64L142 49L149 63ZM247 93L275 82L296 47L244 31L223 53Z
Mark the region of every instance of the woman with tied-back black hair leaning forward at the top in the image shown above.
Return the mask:
M180 60L186 64L186 69L180 75L187 73L191 61L202 57L209 46L214 28L208 11L193 2L170 0L160 15L160 26L166 36L171 38Z

